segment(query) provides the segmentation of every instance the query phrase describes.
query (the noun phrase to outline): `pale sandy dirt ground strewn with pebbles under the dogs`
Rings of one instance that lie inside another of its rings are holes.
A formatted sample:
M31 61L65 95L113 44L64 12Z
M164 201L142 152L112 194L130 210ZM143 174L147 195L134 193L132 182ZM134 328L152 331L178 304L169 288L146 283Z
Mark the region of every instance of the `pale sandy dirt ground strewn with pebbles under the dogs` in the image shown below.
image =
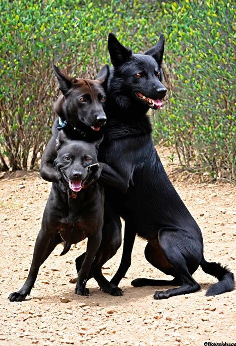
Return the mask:
M162 154L171 175L173 167L165 151ZM26 279L50 192L50 183L40 180L38 174L20 175L0 180L0 346L236 345L235 292L206 297L206 290L216 279L200 268L194 278L202 289L190 295L158 301L152 298L155 287L130 285L137 277L165 277L147 263L146 242L139 238L131 267L120 283L122 297L103 293L94 279L87 284L90 296L74 295L75 285L69 280L76 275L74 260L84 252L84 241L62 257L62 245L58 245L40 268L31 296L22 303L9 302L9 293L18 290ZM202 229L206 259L227 264L236 273L236 187L174 178L171 175ZM121 248L104 266L108 279L116 272L120 256ZM60 297L70 301L62 303Z

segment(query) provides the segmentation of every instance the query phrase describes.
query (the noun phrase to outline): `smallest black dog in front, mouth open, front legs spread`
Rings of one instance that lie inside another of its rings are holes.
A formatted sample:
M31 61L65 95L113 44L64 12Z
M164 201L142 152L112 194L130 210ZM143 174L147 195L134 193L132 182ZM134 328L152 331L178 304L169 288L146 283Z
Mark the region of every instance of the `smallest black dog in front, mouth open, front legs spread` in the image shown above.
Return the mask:
M59 132L55 167L61 176L61 184L52 184L29 275L22 288L9 295L11 302L23 301L30 294L40 265L61 238L73 244L88 237L86 256L78 273L75 293L86 296L89 294L85 286L102 239L104 190L98 182L86 189L82 189L82 183L99 166L97 150L100 142L101 139L92 143L69 140L63 131Z

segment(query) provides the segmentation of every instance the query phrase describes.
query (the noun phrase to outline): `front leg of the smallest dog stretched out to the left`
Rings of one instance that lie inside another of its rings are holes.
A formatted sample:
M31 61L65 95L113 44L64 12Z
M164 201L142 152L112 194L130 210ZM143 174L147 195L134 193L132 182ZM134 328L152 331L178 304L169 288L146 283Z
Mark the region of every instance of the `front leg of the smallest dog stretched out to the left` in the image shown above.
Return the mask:
M11 302L22 302L26 296L30 294L38 275L40 265L47 259L50 253L54 250L57 244L62 241L59 233L52 234L46 231L43 227L39 231L33 252L33 260L30 266L28 277L17 292L9 295L8 299Z

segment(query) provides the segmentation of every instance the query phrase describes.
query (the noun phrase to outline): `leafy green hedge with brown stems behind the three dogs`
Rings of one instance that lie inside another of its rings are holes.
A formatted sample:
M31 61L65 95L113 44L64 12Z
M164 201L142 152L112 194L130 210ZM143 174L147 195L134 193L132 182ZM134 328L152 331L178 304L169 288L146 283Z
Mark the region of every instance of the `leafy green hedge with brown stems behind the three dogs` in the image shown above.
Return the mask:
M169 93L154 114L154 140L174 145L185 169L234 179L234 7L233 0L1 0L1 168L37 168L53 121L52 62L91 78L109 62L108 32L135 52L164 32Z

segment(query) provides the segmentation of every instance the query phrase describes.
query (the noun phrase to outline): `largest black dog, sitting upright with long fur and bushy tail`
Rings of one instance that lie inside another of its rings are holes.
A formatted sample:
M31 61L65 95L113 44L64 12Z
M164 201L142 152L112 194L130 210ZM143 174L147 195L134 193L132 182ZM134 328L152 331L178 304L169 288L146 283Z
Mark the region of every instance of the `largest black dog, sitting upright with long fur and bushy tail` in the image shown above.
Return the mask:
M207 295L234 290L234 275L226 267L205 260L201 230L171 184L152 141L146 113L149 108L160 107L166 94L161 83L164 36L144 55L132 54L113 34L109 35L108 48L114 69L107 91L108 121L99 160L114 167L110 172L116 182L113 185L122 192L106 188L106 200L115 204L114 210L125 220L122 259L111 283L118 286L129 268L138 234L148 241L146 259L174 279L136 279L132 285L181 285L156 291L155 299L198 291L200 286L192 274L199 265L220 280L210 286ZM108 182L104 171L100 179ZM115 239L119 237L118 230L112 234ZM82 259L83 255L76 260L77 270Z

